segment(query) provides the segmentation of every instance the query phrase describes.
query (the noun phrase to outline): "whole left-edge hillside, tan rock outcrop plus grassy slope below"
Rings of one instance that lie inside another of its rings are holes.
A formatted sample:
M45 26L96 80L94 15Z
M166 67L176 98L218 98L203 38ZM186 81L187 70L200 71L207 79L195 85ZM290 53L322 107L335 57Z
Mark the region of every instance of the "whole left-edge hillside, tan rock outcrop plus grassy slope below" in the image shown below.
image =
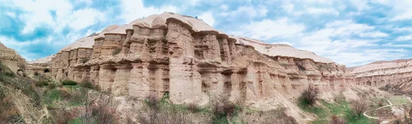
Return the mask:
M0 43L0 123L37 123L41 118L43 104L31 80L15 74L24 69L21 55Z

